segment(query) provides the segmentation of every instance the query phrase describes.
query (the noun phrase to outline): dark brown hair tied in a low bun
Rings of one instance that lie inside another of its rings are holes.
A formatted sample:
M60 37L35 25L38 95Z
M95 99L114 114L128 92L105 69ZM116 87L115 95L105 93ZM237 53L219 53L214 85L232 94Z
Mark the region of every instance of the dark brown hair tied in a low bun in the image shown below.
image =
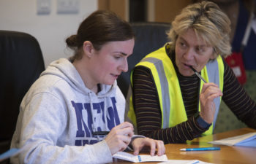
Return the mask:
M114 12L98 10L80 23L78 34L66 39L67 46L75 50L73 59L82 58L83 42L90 41L95 50L107 42L125 41L135 37L132 27Z

